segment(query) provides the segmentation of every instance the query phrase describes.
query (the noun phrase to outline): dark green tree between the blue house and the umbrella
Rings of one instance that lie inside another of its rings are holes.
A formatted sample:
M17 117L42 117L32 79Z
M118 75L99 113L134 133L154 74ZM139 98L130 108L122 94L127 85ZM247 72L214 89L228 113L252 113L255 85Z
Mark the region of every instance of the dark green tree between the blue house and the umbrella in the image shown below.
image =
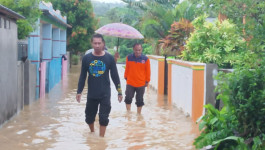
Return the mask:
M87 0L50 0L54 9L67 16L72 28L67 30L67 49L73 53L84 52L91 47L90 39L97 27L91 1Z

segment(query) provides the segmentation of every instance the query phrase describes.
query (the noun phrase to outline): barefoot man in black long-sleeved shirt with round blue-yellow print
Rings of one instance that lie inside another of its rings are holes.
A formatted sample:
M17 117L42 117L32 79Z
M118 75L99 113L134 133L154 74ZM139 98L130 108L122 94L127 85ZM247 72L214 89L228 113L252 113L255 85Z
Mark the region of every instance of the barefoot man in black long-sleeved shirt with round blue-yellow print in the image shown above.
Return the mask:
M94 122L99 106L99 135L104 137L111 110L109 73L118 91L119 102L122 101L122 90L115 60L112 55L104 51L105 41L103 36L95 34L91 42L94 51L85 55L82 60L76 100L80 103L81 93L88 73L86 123L89 125L90 131L95 132Z

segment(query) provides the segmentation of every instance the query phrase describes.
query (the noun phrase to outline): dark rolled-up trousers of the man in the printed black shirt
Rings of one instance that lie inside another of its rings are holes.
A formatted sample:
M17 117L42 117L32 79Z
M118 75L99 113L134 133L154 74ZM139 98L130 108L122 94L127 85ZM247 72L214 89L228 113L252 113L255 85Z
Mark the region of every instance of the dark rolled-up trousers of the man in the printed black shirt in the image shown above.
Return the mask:
M110 96L100 99L88 98L86 103L86 123L95 122L99 107L99 124L107 126L109 124L109 114L111 110Z

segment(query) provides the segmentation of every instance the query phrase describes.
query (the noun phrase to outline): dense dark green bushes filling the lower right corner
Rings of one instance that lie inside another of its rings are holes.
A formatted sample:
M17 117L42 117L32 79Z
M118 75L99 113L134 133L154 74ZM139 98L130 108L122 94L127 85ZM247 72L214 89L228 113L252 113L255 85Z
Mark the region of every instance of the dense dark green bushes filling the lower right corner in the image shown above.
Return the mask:
M207 113L201 118L196 148L265 148L265 59L256 61L255 67L244 65L232 73L219 73L218 99L224 107L219 111L210 104L205 106Z

